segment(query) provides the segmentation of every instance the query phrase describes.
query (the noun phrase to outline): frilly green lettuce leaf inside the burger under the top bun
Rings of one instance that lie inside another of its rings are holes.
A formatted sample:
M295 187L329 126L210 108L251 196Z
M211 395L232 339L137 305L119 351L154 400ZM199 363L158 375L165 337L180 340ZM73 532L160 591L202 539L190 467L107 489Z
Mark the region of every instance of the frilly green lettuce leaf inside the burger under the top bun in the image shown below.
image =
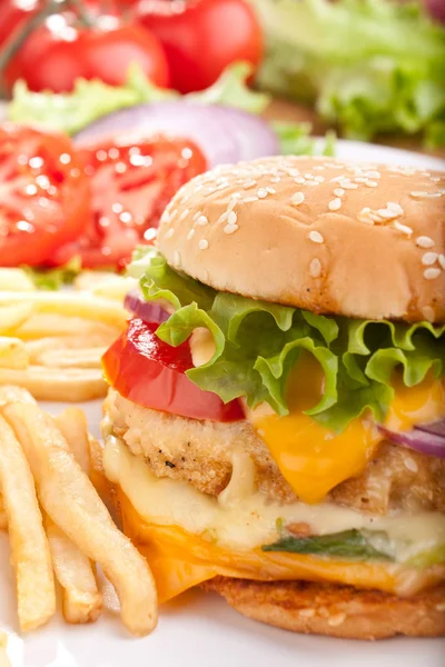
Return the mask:
M325 317L218 292L172 270L155 248L138 250L129 272L140 277L148 301L166 299L176 309L159 338L177 346L198 327L210 331L212 358L187 375L225 402L244 396L251 408L266 401L287 415L289 374L305 351L325 376L324 396L306 414L340 432L366 409L385 419L395 369L407 387L445 372L445 326Z

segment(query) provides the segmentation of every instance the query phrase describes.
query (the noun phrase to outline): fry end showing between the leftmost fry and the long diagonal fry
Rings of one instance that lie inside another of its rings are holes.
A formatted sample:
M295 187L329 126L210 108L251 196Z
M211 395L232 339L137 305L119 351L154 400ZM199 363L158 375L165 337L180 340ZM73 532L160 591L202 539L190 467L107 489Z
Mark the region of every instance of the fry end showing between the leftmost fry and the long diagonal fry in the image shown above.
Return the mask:
M102 609L102 596L91 563L49 517L46 518L46 529L56 577L63 589L65 620L92 623Z

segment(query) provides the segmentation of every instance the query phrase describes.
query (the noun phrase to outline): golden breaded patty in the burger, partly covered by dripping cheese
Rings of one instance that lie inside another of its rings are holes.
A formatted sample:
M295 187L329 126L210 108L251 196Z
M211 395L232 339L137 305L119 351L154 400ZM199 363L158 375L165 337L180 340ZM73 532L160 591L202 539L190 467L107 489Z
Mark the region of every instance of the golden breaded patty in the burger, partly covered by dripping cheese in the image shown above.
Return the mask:
M296 500L247 420L221 424L178 417L137 406L113 390L106 410L115 435L144 457L157 477L185 480L217 496L230 480L234 449L243 448L255 462L260 490L279 501ZM389 509L445 511L445 460L383 442L364 472L329 496L338 505L383 515Z

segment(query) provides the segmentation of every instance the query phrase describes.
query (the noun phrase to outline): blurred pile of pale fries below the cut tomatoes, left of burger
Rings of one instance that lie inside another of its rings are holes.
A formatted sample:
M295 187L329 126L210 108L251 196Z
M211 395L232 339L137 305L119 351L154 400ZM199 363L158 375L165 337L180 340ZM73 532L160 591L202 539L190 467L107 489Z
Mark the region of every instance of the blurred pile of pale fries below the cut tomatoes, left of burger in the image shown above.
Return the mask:
M0 386L40 400L106 395L100 358L121 334L130 278L85 271L75 290L41 291L21 269L0 269Z

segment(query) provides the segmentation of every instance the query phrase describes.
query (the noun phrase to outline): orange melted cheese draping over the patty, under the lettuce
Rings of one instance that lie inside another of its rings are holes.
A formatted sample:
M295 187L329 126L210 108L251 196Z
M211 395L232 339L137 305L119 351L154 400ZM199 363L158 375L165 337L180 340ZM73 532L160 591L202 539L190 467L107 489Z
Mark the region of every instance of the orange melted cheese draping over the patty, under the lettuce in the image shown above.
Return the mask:
M445 384L428 377L408 388L395 380L395 397L386 425L407 430L415 424L445 416ZM324 376L314 357L298 364L289 382L289 415L280 417L266 405L248 412L281 475L305 502L319 502L335 486L360 475L383 440L369 415L355 419L339 435L304 415L322 398Z

